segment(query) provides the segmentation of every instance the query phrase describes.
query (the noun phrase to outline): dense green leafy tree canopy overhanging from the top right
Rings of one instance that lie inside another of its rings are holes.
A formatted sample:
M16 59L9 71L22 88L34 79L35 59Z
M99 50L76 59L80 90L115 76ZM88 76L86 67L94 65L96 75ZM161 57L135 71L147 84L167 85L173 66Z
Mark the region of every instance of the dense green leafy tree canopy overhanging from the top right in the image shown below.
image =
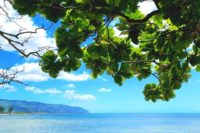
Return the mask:
M42 70L57 77L81 64L93 78L108 73L122 85L126 79L153 75L145 85L146 100L168 101L200 71L200 0L152 0L157 9L147 15L138 3L145 0L13 0L22 15L41 14L61 21L55 33L57 51L41 58ZM111 25L111 23L115 25ZM114 27L124 37L116 36ZM93 42L83 46L88 38Z

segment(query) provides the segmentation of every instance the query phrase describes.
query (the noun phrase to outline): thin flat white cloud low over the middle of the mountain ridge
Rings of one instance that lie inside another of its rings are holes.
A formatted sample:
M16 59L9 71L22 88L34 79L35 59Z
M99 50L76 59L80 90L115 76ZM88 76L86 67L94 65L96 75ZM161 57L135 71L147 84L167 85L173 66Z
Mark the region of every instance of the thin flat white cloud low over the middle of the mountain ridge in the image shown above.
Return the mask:
M36 87L25 87L26 91L33 92L35 94L61 94L62 92L56 88L39 89Z

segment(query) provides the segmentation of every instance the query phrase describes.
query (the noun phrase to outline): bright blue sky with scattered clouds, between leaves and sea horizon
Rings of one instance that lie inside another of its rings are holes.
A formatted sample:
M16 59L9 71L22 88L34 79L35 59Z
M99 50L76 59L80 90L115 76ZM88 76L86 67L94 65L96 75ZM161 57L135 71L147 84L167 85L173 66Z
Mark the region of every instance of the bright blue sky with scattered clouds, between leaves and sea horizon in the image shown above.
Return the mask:
M33 19L26 17L26 19L26 25L33 21L30 24L32 28L51 25L40 16ZM37 45L53 43L52 36L58 26L59 23L54 24L47 33L41 32L31 42ZM40 70L37 59L21 58L12 49L5 48L4 51L0 51L0 60L1 69L23 68L24 72L19 75L19 79L29 84L23 86L13 83L10 86L1 86L0 98L2 99L80 106L93 113L200 113L200 79L198 78L199 73L194 71L192 71L192 78L189 82L176 91L175 99L169 102L152 103L144 100L142 91L146 83L156 82L154 77L143 81L132 78L127 80L123 86L118 86L107 74L103 74L96 80L91 79L90 71L83 65L77 72L71 74L62 72L57 79L52 79Z

